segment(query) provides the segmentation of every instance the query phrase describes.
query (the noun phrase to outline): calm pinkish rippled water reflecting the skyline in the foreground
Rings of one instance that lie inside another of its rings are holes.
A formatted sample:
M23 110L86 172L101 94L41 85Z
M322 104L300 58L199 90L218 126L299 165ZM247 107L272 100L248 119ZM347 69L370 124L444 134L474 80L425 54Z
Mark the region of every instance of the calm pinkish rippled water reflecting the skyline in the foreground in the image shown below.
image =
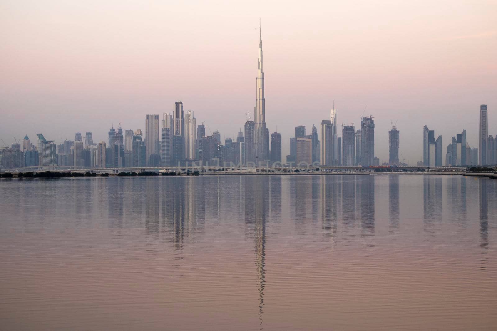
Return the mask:
M497 328L497 180L0 180L2 330Z

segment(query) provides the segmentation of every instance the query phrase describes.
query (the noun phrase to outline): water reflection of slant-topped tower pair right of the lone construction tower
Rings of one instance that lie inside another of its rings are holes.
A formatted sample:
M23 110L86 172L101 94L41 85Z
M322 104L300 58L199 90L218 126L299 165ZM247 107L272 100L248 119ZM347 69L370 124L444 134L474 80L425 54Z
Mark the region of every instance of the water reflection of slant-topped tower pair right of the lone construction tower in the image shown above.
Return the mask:
M423 175L423 231L441 231L442 178Z

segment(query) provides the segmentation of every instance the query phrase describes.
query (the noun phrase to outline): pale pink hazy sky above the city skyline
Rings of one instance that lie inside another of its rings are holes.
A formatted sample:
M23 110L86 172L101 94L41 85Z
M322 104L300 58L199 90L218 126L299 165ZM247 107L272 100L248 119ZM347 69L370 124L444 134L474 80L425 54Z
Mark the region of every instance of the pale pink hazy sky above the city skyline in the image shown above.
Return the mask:
M375 153L422 159L422 127L478 147L479 105L497 134L496 1L0 0L0 138L42 132L104 139L145 131L146 114L193 110L233 137L253 117L262 20L266 122L294 127L375 118ZM402 158L402 157L401 157Z

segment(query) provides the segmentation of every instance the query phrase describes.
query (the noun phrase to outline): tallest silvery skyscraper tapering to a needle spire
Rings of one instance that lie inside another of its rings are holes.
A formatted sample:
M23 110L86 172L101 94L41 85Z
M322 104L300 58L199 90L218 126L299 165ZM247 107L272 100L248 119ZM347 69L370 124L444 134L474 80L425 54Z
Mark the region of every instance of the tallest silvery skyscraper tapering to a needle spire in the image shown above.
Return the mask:
M264 99L264 71L262 68L262 31L259 30L259 61L256 82L256 96L254 107L254 156L258 161L268 158L268 134L266 132L265 99Z

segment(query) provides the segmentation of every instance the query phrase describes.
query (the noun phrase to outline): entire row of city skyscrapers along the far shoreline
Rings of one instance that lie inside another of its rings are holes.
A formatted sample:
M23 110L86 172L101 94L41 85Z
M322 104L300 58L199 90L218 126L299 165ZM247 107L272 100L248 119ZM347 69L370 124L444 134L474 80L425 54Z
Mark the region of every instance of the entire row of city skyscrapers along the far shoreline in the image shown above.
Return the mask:
M37 134L36 146L27 136L22 149L17 141L11 148L0 151L1 168L31 166L90 167L175 167L188 162L203 165L235 164L266 165L281 162L281 134L269 130L265 122L264 71L262 36L259 33L259 58L256 81L254 117L247 119L244 130L236 140L228 137L221 141L220 132L206 134L204 123L197 125L192 110L184 111L181 101L175 102L171 112L149 114L145 118L145 136L142 130L125 130L120 124L112 127L108 141L93 143L92 133L76 132L74 140L56 144ZM162 119L161 119L162 117ZM339 136L338 125L341 125ZM207 126L207 128L209 128ZM290 154L287 164L307 163L325 166L379 166L375 156L375 124L373 116L361 117L360 128L353 123L337 123L334 107L330 117L321 122L321 139L313 125L311 134L305 126L295 127L290 138ZM404 165L399 161L400 131L392 123L389 136L389 165ZM224 144L223 144L224 143ZM466 141L466 130L452 137L447 146L445 160L442 152L442 136L435 139L435 132L423 127L423 160L420 166L489 165L497 163L497 135L488 135L487 105L480 106L479 148L471 148ZM404 161L404 160L403 160Z

